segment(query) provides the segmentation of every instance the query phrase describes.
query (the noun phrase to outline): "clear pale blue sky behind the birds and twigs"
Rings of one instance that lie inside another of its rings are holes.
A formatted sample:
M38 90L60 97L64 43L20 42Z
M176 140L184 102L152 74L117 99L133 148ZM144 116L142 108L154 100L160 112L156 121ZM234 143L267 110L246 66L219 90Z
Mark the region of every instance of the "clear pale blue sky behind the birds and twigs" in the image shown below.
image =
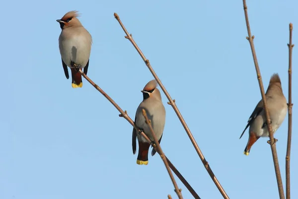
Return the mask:
M117 12L181 111L230 199L278 199L268 138L243 155L247 120L261 99L242 0L1 1L0 199L177 198L158 155L136 164L133 127L83 79L65 78L56 19L79 10L93 37L88 77L131 118L153 79L124 38ZM288 99L289 23L298 44L297 0L247 1L265 91L278 73ZM298 198L298 70L293 51L292 198ZM174 110L161 147L202 199L220 199ZM284 188L288 115L275 134ZM150 149L151 150L151 149ZM191 194L175 177L184 199Z

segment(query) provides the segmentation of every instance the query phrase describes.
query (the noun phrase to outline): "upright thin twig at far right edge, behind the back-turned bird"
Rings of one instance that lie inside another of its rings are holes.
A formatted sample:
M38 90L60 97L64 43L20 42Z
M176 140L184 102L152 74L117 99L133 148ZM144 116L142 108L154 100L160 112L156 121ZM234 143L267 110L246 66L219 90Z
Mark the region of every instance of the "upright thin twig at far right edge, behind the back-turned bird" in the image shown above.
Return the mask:
M290 43L289 47L289 103L288 103L288 145L286 155L286 197L291 199L291 186L290 186L290 156L291 156L291 141L292 141L292 50L294 44L292 44L292 30L293 24L290 23Z

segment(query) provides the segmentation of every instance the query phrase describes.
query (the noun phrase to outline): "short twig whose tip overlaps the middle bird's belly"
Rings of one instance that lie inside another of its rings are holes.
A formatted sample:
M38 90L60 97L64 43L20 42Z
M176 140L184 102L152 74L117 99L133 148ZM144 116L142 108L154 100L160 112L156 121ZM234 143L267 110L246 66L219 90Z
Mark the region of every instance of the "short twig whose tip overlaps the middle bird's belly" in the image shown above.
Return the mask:
M166 170L169 173L169 176L170 176L170 178L172 180L172 183L173 183L174 188L175 188L175 192L176 192L176 194L177 194L177 196L178 196L179 199L183 199L182 194L181 194L181 192L180 192L180 190L178 188L178 185L177 185L177 183L176 183L176 181L174 179L174 176L173 176L173 174L172 174L172 172L170 170L169 163L167 162L167 160L165 158L165 155L164 155L164 153L163 153L163 151L162 151L162 149L161 149L161 147L159 145L158 139L157 139L157 137L156 137L156 135L155 135L155 133L153 131L153 128L152 128L152 125L151 125L151 120L149 120L149 118L147 116L147 113L146 113L146 110L144 108L143 108L143 115L144 115L144 117L146 119L146 124L148 125L148 127L150 129L151 135L152 135L153 140L155 142L154 144L156 145L156 148L158 150L158 153L160 155L160 158L162 159L162 161L163 161L163 163L164 163L164 165L166 167Z

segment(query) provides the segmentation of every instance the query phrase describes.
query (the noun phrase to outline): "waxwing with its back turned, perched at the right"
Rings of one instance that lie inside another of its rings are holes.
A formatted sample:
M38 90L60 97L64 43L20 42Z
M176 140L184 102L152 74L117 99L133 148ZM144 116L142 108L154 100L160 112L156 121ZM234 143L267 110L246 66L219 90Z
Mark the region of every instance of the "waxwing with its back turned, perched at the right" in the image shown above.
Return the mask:
M282 83L278 74L273 74L271 76L270 83L265 96L271 120L272 132L275 133L275 131L283 123L288 110L287 100L283 94ZM244 131L242 132L240 138L242 137L243 133L248 128L248 126L249 137L244 150L244 155L249 154L251 146L260 137L269 137L266 114L262 100L259 101L254 111L250 115L248 123Z

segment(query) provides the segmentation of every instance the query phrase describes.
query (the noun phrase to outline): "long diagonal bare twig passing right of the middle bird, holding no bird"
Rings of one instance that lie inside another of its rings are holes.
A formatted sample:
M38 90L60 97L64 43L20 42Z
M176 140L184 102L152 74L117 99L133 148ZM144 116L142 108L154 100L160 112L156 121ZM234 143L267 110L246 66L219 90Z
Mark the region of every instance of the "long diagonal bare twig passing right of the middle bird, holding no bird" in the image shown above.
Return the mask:
M176 106L175 100L172 100L171 96L169 95L169 93L166 91L165 87L163 86L163 84L161 83L161 81L159 80L158 76L156 75L156 73L154 72L154 70L152 69L150 62L148 59L146 59L145 55L143 54L143 52L141 51L141 49L138 47L138 45L136 44L136 42L134 41L133 37L131 34L128 33L128 31L126 30L125 26L123 25L123 23L120 20L120 17L117 13L114 13L115 18L118 20L119 24L121 25L122 29L124 30L126 36L125 38L130 40L130 42L133 44L133 46L136 48L136 50L138 51L138 53L140 54L140 56L142 57L142 59L144 60L144 62L146 63L147 67L149 68L149 71L152 73L153 77L155 78L156 82L158 83L158 85L160 86L161 90L163 91L163 93L165 94L165 96L167 97L167 99L169 100L168 104L170 104L174 111L176 112L179 120L181 121L187 135L189 136L193 146L195 147L203 165L205 166L207 172L209 173L211 179L213 180L213 182L215 183L215 185L217 186L217 188L219 189L219 191L221 192L221 194L223 195L224 199L229 199L227 194L224 191L224 188L222 187L222 185L220 184L220 182L218 181L218 179L216 178L216 176L214 175L212 169L210 168L209 163L206 161L202 151L200 150L195 138L193 137L190 129L188 128L185 120L183 119L178 107Z

